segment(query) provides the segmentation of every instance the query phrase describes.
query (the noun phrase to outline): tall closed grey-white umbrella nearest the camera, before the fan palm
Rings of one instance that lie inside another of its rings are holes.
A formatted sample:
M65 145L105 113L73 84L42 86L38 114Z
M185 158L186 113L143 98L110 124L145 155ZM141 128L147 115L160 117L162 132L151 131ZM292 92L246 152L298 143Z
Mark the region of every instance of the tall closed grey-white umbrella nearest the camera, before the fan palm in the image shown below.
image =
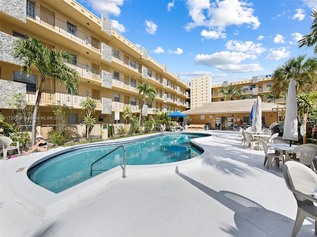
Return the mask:
M283 139L289 140L289 146L292 145L292 141L298 141L297 126L298 120L295 81L294 79L291 79L288 85L283 133Z

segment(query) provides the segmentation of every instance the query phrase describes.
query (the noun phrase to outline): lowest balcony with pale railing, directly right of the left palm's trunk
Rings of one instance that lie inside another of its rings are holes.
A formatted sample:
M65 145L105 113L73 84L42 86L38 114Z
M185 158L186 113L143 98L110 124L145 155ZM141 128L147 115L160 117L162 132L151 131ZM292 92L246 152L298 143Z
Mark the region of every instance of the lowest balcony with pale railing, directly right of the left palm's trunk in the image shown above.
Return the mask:
M37 92L26 92L26 101L28 104L35 105L37 98ZM72 95L65 92L51 91L51 90L43 90L41 95L41 103L40 106L52 105L52 104L60 104L67 105L69 107L80 108L79 105L81 101L86 99L86 95ZM101 109L101 100L95 99L97 102L97 109Z

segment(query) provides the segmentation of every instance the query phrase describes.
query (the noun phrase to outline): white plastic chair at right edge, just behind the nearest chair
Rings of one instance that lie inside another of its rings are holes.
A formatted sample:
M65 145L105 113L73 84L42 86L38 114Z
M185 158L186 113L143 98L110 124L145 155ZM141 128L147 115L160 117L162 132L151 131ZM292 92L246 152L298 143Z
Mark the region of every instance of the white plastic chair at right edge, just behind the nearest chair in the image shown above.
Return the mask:
M317 156L317 145L303 144L294 148L293 153L296 154L300 163L308 165L314 170L313 161Z

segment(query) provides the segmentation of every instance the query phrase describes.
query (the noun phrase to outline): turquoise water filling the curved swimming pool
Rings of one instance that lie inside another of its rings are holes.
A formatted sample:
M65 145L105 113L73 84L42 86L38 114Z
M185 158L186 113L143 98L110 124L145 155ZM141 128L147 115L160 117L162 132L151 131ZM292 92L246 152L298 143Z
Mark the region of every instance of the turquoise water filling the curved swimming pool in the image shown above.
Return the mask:
M202 152L191 146L190 140L206 134L177 133L155 136L120 144L126 149L126 164L161 164L190 159ZM123 164L124 151L118 149L93 165L119 145L80 147L53 156L28 170L30 180L54 193L60 193L102 172Z

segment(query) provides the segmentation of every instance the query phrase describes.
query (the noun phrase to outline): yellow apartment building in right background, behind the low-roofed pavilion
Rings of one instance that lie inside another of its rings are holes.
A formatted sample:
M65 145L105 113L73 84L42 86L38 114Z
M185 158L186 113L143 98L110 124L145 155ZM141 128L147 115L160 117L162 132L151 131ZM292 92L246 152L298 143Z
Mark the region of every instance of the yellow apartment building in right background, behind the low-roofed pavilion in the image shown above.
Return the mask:
M224 81L223 84L217 84L211 86L211 100L212 102L223 101L221 91L222 87L228 87L232 83L232 86L238 87L241 90L245 91L242 93L242 96L251 96L250 98L256 98L257 96L261 96L263 102L272 102L276 104L285 104L285 99L275 99L272 100L267 98L267 95L271 93L270 87L273 84L272 77L268 75L265 78L253 77L251 80L242 80L236 82ZM192 93L192 97L193 97ZM233 96L232 100L238 100L239 97Z

